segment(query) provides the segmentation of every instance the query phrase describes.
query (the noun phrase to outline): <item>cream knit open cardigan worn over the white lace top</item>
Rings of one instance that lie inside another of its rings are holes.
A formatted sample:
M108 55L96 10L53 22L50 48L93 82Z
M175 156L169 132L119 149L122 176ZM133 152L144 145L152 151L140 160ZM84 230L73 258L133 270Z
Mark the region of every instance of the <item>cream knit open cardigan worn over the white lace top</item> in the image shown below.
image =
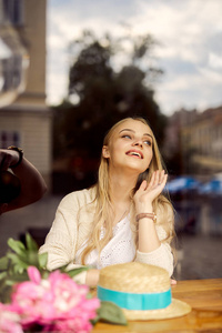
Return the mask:
M89 238L95 208L95 203L92 203L93 199L94 190L92 188L72 192L60 202L46 243L39 250L39 253L48 252L49 270L65 264L69 264L70 270L80 266L75 262L75 254ZM167 233L161 225L157 224L155 228L161 241L160 248L149 253L137 251L135 261L161 266L171 276L173 273L173 255L169 243L162 242ZM75 280L84 283L85 274L85 272L80 273Z

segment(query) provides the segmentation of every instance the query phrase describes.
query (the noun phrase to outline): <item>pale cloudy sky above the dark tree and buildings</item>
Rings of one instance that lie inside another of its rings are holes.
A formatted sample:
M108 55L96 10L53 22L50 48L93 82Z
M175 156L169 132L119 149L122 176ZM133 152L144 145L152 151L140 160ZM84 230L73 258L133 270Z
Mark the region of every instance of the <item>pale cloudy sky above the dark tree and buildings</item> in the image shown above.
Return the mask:
M221 0L50 0L48 4L48 101L68 87L68 44L83 29L98 36L151 33L154 63L164 70L155 98L170 114L180 107L222 104ZM218 72L216 72L218 71Z

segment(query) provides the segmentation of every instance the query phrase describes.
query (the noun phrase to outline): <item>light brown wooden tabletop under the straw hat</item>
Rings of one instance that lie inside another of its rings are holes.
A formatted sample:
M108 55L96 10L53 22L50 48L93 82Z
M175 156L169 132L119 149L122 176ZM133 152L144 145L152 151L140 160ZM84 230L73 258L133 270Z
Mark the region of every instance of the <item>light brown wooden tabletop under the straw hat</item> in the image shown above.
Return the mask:
M176 285L172 285L172 295L189 303L192 312L161 321L129 321L128 326L97 323L92 332L222 332L222 279L178 281Z

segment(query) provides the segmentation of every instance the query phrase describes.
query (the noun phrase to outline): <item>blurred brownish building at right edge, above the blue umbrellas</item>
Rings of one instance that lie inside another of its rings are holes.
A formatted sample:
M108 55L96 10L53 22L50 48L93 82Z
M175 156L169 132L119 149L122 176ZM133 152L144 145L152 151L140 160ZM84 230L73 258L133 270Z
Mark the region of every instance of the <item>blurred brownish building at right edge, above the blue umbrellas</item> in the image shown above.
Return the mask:
M203 112L175 112L169 121L167 141L169 153L181 152L182 173L203 176L221 173L222 107Z

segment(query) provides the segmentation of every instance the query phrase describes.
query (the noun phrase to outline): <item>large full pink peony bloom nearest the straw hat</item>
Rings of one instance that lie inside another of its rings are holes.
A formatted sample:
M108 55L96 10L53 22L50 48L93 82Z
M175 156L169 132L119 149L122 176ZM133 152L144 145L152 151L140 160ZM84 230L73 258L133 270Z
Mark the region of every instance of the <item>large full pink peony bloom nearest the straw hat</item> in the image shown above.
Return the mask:
M68 274L52 272L41 280L36 268L29 268L30 281L14 286L12 311L21 317L23 329L41 325L44 332L90 332L90 320L97 316L98 299L88 299L89 287L77 284Z

